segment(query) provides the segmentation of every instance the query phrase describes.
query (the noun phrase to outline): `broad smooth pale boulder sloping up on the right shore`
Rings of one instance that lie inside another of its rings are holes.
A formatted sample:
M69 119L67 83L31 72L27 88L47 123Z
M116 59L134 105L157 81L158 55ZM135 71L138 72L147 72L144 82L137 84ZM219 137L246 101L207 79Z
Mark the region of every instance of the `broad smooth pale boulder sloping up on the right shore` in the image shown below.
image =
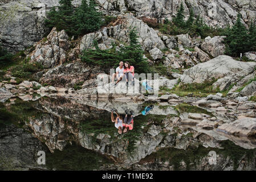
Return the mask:
M220 86L224 89L231 78L234 79L233 81L241 80L243 77L253 73L255 66L255 62L242 62L236 61L230 56L218 56L206 63L200 63L186 69L181 76L181 81L184 83L202 83L215 78L219 80L214 86L216 88Z

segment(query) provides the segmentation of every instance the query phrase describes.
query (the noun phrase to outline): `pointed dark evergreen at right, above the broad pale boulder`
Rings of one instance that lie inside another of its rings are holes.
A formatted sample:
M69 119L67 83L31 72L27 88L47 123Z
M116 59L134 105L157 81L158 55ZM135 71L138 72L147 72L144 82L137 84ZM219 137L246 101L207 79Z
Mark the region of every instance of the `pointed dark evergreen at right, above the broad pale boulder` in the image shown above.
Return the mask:
M225 32L226 38L224 42L226 44L225 53L227 55L239 56L240 53L250 50L250 37L247 32L246 27L241 22L241 15L238 14L234 26L228 28Z

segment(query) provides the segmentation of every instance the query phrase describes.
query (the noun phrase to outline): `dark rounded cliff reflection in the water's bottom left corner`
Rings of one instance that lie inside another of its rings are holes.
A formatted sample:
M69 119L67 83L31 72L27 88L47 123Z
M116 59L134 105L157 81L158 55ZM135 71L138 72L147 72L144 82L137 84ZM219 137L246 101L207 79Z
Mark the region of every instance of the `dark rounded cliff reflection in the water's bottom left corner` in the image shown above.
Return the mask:
M1 170L45 169L37 163L38 151L47 151L47 148L32 134L14 125L1 127Z

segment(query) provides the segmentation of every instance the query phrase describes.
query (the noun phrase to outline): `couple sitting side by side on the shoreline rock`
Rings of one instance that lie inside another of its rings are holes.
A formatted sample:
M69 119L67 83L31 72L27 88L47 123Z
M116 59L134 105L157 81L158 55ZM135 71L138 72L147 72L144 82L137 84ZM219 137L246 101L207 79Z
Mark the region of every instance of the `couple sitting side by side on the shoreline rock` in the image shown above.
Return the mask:
M134 85L134 67L129 64L128 61L120 61L119 67L116 68L116 73L113 73L112 75L112 84L115 81L115 78L117 78L117 81L115 83L115 86L123 79L125 76L126 79L126 86L128 88L128 80L129 76L132 77L132 85Z

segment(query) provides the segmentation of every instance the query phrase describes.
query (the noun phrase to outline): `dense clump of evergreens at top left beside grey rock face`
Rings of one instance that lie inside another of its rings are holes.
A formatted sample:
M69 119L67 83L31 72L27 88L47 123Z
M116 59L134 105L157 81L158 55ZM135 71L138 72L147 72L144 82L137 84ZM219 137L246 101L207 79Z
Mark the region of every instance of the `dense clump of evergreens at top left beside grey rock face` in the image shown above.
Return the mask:
M45 20L47 27L65 30L68 35L87 34L99 30L103 24L102 14L96 10L94 0L82 0L82 4L74 9L72 0L60 0L60 6L53 7Z

